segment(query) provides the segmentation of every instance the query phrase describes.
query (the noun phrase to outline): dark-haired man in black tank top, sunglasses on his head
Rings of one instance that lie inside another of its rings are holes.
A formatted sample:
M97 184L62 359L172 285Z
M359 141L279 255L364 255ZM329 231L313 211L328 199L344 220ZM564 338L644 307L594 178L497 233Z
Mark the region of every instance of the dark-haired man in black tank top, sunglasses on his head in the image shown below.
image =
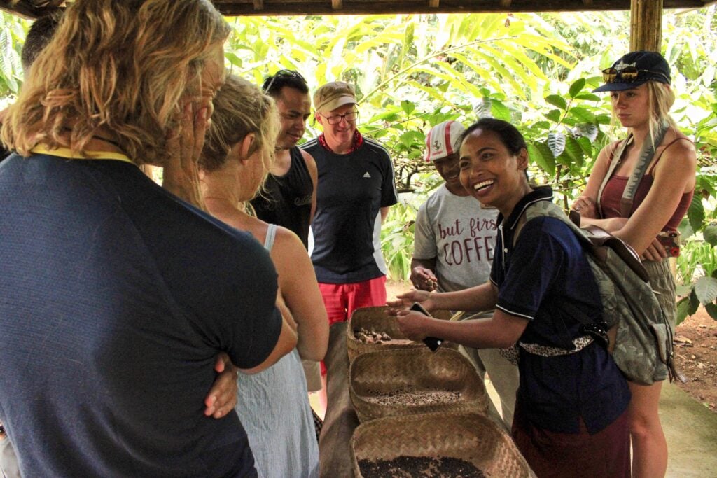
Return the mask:
M252 199L257 217L295 232L308 249L309 226L316 208L316 162L296 143L303 137L311 113L306 80L293 70L279 70L262 86L274 98L281 118L276 162L265 192Z

